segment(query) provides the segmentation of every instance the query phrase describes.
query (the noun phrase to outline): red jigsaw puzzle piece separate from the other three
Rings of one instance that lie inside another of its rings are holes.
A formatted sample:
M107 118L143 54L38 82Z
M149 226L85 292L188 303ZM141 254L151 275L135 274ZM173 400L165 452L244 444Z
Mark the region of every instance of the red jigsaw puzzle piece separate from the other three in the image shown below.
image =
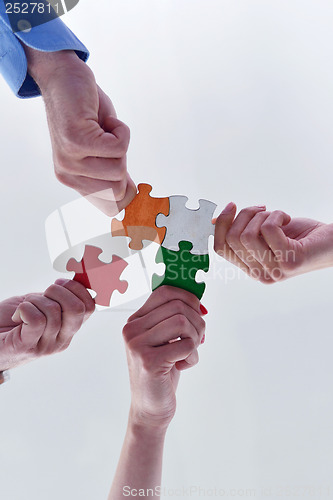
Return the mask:
M127 290L128 282L119 278L128 264L117 255L113 255L109 263L102 262L98 258L102 252L100 248L86 245L82 260L70 259L66 269L75 272L75 281L97 293L96 304L107 307L115 290L122 294Z

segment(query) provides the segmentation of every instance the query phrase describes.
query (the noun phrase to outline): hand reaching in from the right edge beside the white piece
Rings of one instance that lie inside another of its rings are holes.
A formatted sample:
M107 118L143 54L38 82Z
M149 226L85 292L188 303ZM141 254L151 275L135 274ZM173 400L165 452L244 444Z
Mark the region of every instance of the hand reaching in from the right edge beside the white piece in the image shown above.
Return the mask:
M295 218L265 207L237 217L230 203L216 220L215 251L262 283L333 266L333 224Z

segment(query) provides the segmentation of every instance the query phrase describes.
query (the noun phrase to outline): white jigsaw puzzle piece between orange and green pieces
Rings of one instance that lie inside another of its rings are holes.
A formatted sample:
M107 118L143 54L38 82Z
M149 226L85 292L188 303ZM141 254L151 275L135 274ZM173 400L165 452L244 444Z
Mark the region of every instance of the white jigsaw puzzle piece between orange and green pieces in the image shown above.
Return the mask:
M191 210L186 207L186 196L170 196L169 215L159 214L156 217L157 227L166 227L163 247L178 251L180 241L193 244L192 254L208 254L208 237L214 234L213 214L217 205L208 200L199 200L199 208Z

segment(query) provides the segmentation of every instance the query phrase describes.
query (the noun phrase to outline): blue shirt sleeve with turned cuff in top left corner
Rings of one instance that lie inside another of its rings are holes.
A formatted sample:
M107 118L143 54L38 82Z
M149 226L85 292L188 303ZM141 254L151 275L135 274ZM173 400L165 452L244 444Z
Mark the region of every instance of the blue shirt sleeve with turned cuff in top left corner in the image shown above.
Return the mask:
M89 57L86 47L59 17L34 26L29 32L14 33L5 4L0 0L0 73L14 94L21 98L39 96L40 90L28 73L27 58L20 41L42 52L74 50L83 61Z

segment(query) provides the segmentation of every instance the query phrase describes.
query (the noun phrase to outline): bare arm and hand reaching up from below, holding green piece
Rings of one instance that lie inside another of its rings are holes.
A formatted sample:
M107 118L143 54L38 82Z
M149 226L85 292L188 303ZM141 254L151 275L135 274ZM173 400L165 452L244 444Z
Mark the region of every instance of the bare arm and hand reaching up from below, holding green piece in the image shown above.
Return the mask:
M153 292L125 325L132 398L109 500L140 489L160 497L164 439L176 411L180 371L198 362L204 329L199 300L166 286Z

